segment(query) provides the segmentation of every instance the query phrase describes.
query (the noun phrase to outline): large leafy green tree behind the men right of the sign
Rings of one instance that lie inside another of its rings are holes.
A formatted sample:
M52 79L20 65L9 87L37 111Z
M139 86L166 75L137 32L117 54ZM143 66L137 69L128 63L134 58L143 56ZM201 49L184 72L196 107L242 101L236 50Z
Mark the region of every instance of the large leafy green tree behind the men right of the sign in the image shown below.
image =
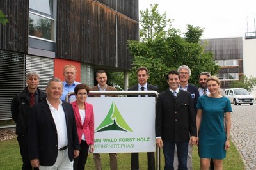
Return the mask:
M141 11L140 40L129 41L129 52L134 56L132 74L129 84L136 84L135 70L146 66L150 71L148 81L163 91L168 87L166 74L170 70L177 70L181 65L191 68L190 81L198 83L200 72L218 73L220 66L216 65L211 52L204 52L200 45L203 29L188 25L185 37L179 30L172 28L172 20L157 11L157 4L151 5L151 10Z

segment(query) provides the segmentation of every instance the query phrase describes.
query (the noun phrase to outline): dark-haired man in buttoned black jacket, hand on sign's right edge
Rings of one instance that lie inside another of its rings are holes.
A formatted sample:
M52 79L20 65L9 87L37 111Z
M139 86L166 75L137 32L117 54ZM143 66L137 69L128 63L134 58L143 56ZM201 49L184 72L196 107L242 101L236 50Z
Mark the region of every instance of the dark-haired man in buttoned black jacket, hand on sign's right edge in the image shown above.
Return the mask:
M163 147L164 169L174 169L177 146L179 169L187 169L188 144L196 144L196 120L191 93L179 89L180 75L167 75L169 89L159 94L156 107L156 143Z

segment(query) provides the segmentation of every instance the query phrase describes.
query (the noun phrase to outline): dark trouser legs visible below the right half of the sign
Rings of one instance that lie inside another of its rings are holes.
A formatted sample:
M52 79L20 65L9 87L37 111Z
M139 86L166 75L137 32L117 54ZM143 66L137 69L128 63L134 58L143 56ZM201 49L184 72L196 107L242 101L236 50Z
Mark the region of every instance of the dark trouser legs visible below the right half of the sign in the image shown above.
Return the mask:
M148 170L155 170L155 153L147 152L148 156ZM139 153L132 153L131 155L131 170L139 169Z

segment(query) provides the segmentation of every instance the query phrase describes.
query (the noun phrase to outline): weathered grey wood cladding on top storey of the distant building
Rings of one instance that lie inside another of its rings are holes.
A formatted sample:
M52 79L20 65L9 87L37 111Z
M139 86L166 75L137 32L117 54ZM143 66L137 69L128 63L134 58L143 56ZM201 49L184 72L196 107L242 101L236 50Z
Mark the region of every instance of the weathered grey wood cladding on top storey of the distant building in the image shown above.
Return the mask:
M206 51L213 52L215 60L243 59L243 38L217 38L202 40L207 42Z

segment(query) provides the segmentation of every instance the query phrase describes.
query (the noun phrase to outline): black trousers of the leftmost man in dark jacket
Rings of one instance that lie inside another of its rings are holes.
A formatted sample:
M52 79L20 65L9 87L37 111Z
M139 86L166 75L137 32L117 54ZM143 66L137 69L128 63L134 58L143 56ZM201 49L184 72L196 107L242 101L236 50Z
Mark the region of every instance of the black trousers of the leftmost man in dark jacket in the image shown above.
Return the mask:
M28 157L28 135L18 135L18 143L20 146L20 155L22 157L22 170L31 170L32 166ZM38 168L34 168L35 170Z

